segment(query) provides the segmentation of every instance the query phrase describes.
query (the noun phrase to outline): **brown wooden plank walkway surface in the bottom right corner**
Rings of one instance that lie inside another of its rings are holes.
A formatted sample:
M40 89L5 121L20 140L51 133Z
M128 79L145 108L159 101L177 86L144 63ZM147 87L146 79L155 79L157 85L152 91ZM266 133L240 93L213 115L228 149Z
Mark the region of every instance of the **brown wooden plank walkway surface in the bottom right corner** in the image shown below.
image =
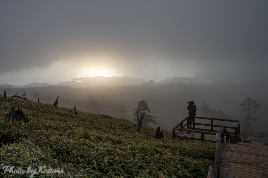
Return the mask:
M259 143L221 145L220 178L268 177L268 146Z

